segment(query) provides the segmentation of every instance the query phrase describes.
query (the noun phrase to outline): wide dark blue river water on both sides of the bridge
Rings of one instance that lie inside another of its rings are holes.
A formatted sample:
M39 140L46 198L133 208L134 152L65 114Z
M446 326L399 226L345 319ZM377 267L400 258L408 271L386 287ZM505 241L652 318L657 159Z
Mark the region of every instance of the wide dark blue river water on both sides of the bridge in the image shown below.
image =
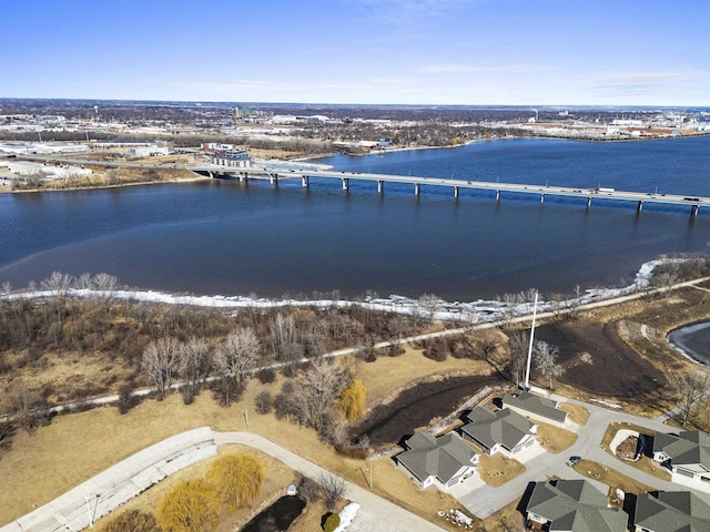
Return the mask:
M337 155L337 170L710 196L710 137L586 143L539 139L450 150ZM337 289L448 300L529 287L570 294L629 283L659 254L699 252L710 205L596 200L311 180L235 181L0 195L0 283L53 270L106 272L136 288L281 297Z

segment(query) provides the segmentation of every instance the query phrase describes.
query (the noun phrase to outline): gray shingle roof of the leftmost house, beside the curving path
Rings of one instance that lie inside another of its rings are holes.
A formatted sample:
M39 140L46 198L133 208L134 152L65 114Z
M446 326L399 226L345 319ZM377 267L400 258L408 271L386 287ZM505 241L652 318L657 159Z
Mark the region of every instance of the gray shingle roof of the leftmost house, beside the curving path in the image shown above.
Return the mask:
M446 483L463 467L471 467L476 456L474 450L454 432L439 438L417 432L405 443L409 450L398 454L397 461L420 482L434 475Z

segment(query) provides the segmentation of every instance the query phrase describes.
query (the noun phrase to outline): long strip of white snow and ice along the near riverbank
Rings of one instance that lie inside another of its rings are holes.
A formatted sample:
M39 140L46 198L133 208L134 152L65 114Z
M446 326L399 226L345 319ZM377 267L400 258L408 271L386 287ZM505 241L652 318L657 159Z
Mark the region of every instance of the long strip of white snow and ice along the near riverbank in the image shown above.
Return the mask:
M653 275L653 268L661 264L661 260L651 260L641 265L635 282L623 288L598 288L586 290L579 297L565 301L541 301L538 303L539 311L565 311L577 308L581 305L626 296L649 287ZM92 290L69 288L68 290L34 290L26 293L6 294L2 297L16 298L41 298L57 295L71 297L103 297L112 299L123 299L133 301L162 303L168 305L191 305L196 307L215 308L281 308L281 307L348 307L358 305L371 310L382 310L398 313L409 316L426 316L433 314L436 319L447 321L462 321L468 324L497 321L513 316L523 316L532 311L531 303L507 303L501 300L478 299L470 303L460 301L426 301L425 298L413 299L404 296L392 295L386 298L367 297L361 301L347 299L266 299L245 296L181 296L155 290Z

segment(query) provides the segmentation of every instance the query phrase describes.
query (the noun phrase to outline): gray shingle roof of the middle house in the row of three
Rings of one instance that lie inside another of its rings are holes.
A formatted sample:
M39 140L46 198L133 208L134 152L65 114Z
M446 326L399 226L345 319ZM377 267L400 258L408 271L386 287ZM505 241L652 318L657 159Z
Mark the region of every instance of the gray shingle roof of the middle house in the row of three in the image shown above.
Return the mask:
M476 407L467 416L470 423L462 427L462 432L480 442L486 449L500 443L511 450L523 440L534 424L508 408L494 412Z

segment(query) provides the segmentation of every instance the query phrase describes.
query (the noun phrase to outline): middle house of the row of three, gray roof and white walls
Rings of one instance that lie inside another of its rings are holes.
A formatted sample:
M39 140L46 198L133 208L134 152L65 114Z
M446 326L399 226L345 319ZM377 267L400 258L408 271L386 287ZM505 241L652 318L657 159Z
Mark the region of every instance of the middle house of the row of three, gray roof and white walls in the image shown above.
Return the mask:
M537 441L537 426L509 408L494 412L476 407L466 418L469 423L460 428L462 437L487 454L513 457Z

